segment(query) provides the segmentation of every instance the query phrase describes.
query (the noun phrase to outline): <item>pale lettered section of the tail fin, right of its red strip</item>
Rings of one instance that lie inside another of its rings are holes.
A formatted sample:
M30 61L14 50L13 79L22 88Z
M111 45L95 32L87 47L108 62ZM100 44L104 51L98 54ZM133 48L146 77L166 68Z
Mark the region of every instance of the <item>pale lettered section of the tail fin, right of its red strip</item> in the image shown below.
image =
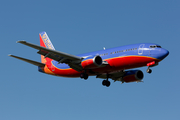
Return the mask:
M41 33L41 37L42 37L46 47L54 50L54 46L52 45L51 41L49 40L49 37L47 36L47 34L45 32Z

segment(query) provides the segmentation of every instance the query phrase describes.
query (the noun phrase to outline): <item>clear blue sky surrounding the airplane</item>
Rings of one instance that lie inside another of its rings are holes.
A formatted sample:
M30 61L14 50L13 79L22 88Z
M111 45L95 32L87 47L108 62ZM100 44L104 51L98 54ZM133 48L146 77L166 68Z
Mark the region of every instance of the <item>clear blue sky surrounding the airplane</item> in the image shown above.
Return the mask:
M178 0L6 0L0 4L1 120L179 120L180 1ZM46 31L56 50L73 55L133 43L157 43L170 51L144 83L62 78L10 58L40 61Z

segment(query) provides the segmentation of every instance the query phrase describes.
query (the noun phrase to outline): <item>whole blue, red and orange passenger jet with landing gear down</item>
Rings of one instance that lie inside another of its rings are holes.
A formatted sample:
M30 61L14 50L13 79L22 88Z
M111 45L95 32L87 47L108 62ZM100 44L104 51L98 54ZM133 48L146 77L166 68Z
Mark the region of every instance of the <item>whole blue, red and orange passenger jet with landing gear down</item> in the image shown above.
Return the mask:
M89 76L96 76L104 79L102 85L106 87L111 84L109 78L122 83L142 82L143 72L134 68L147 66L147 73L151 73L150 68L157 66L169 54L168 50L158 44L140 43L71 55L55 50L46 32L39 33L39 37L40 46L26 41L17 43L37 49L41 62L15 55L9 56L36 65L39 72L54 76L80 77L85 80Z

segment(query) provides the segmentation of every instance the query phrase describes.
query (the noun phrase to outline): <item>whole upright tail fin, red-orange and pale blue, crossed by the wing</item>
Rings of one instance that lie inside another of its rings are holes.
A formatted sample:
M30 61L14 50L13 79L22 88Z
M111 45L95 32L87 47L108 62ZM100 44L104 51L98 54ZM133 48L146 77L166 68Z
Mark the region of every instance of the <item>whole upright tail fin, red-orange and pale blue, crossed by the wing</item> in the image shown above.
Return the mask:
M51 43L46 32L44 32L44 31L40 32L39 37L40 37L40 46L55 50L55 48L54 48L53 44ZM49 59L46 59L46 58L44 58L44 56L41 55L41 62L42 63L46 63L47 60L49 60Z

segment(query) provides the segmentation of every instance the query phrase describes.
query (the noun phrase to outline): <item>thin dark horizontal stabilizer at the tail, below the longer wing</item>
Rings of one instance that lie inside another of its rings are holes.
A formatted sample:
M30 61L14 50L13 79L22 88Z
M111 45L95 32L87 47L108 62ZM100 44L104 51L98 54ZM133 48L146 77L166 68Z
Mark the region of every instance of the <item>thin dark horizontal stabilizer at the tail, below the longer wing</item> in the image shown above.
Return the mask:
M30 63L30 64L33 64L33 65L36 65L36 66L39 66L39 67L44 67L44 66L45 66L45 64L43 64L43 63L36 62L36 61L33 61L33 60L29 60L29 59L22 58L22 57L18 57L18 56L15 56L15 55L8 55L8 56L17 58L17 59L19 59L19 60L28 62L28 63Z

